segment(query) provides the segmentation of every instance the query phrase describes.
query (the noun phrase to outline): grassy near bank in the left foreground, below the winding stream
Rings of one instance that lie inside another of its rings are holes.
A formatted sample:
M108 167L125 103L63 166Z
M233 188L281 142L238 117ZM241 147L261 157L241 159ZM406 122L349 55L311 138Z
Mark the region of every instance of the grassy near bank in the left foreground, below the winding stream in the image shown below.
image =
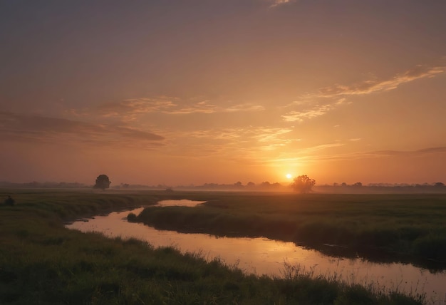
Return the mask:
M200 254L181 254L171 247L154 249L136 239L107 239L63 227L68 219L167 199L162 193L0 191L0 196L6 194L14 197L16 205L0 206L0 304L423 301L422 296L348 286L292 267L281 278L247 275L218 259L206 262ZM199 199L202 194L188 196Z

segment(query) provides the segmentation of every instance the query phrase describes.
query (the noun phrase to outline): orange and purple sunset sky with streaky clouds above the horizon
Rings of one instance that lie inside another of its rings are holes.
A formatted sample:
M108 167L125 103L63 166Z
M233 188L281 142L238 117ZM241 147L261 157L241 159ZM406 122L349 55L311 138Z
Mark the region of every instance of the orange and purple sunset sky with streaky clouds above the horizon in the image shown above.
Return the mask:
M0 181L446 182L445 14L0 0Z

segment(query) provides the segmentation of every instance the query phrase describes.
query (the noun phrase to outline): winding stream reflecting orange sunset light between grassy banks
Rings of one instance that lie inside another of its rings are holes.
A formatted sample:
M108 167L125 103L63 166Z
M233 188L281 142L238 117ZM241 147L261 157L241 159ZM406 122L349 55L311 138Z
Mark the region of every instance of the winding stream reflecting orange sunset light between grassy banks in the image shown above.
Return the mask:
M202 202L165 200L160 206L186 205L199 208ZM135 237L154 247L174 246L182 252L201 252L206 259L219 257L229 265L237 265L246 273L282 276L284 266L291 264L311 272L337 276L348 283L372 285L381 291L406 294L426 294L430 304L446 304L446 272L432 274L410 264L378 264L365 259L328 257L315 250L304 249L292 242L259 238L214 237L208 234L185 234L162 231L143 224L127 222L129 212L139 214L142 207L132 211L113 212L107 216L68 224L69 229L100 232L107 237Z

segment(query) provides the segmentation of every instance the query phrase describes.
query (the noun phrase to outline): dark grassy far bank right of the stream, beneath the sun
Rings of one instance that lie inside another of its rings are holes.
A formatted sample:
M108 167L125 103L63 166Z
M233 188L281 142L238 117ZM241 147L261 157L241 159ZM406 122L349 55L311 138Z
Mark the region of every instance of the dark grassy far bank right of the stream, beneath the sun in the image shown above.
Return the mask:
M444 194L228 193L210 196L199 208L152 207L135 220L159 229L264 236L441 269L446 265L445 219Z

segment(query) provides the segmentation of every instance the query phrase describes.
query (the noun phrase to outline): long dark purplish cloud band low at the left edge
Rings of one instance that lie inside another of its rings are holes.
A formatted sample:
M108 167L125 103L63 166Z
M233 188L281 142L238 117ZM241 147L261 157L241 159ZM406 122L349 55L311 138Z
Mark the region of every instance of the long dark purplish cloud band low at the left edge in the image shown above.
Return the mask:
M0 112L0 139L43 143L93 143L97 145L160 145L165 138L125 125L86 123L64 118Z

